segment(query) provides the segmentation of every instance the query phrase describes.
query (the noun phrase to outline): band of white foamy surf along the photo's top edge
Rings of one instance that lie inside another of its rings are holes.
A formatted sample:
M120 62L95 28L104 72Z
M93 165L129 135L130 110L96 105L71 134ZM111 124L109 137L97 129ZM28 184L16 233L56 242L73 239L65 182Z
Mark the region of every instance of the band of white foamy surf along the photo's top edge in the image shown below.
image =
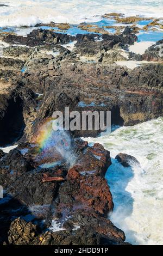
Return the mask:
M162 0L0 0L1 26L34 26L39 22L95 22L112 11L125 15L162 17Z

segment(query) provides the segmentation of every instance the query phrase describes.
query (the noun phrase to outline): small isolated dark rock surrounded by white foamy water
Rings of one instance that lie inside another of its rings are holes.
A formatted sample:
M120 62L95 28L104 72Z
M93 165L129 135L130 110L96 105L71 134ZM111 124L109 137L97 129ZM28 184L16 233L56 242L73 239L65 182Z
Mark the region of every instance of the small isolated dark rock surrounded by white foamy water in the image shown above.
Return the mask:
M115 159L122 164L124 167L133 166L135 164L140 164L139 161L134 156L130 156L127 154L120 153L118 154Z

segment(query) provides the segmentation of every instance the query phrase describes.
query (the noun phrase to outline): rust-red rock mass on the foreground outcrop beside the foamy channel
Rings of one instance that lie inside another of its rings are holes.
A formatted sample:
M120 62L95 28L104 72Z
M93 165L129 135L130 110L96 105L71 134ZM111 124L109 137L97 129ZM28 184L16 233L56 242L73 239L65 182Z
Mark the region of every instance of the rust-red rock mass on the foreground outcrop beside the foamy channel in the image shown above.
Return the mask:
M84 171L80 170L80 173ZM76 168L69 170L68 181L59 190L58 210L67 207L86 208L106 216L106 213L113 209L112 196L106 180L100 176L91 176L91 172L85 172L88 175L80 173Z

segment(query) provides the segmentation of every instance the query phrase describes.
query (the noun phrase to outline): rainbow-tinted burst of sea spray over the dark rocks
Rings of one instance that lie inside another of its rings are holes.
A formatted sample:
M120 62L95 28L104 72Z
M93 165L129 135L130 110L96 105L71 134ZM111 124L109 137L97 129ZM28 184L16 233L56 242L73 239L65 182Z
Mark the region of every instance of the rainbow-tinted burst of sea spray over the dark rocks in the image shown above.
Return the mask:
M37 145L36 160L41 163L66 161L74 164L76 157L73 154L70 135L64 130L54 130L54 118L47 118L37 130L33 142ZM55 124L56 125L56 124Z

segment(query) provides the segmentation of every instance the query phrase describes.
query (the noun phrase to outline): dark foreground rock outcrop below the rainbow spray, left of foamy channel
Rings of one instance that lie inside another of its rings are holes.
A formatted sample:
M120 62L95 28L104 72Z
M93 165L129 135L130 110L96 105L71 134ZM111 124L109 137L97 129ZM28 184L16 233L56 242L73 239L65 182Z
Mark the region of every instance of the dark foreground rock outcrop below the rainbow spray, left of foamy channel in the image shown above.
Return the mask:
M100 144L89 147L81 139L74 140L73 145L76 163L72 167L64 162L56 167L39 167L40 160L35 157L36 145L32 147L28 143L20 144L18 149L2 158L1 177L7 181L6 191L10 194L10 201L5 199L0 205L2 219L5 218L3 237L7 237L10 225L8 240L1 238L2 242L12 245L126 244L123 231L106 218L114 206L104 179L111 164L109 151ZM54 148L52 150L55 151ZM29 159L34 161L30 165ZM8 170L12 168L13 172L4 172L7 165ZM65 181L43 182L43 178L55 176L61 176ZM1 184L4 184L2 179ZM28 210L20 203L29 206ZM40 207L49 205L47 215L38 210L34 215L33 212L30 214L30 205L35 204ZM12 205L14 213L21 217L11 222ZM28 221L30 218L38 224ZM44 229L39 223L42 218L45 220ZM61 231L51 228L53 222L60 225ZM47 228L53 230L45 231Z

